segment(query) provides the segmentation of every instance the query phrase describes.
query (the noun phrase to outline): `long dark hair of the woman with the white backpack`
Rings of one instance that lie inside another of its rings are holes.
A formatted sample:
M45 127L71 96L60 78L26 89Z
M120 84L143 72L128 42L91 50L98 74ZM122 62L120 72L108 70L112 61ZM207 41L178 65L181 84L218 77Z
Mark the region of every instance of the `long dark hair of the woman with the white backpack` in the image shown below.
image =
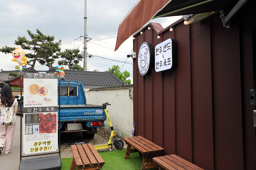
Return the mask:
M3 86L1 90L1 103L0 105L3 107L11 107L15 98L13 97L12 89L9 85Z

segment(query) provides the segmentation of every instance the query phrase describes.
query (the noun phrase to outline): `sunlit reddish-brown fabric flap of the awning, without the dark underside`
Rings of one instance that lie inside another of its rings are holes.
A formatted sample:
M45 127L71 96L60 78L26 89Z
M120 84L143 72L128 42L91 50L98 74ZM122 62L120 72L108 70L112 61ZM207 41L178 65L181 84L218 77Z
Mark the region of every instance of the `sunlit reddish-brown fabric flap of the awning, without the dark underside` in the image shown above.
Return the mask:
M115 51L132 34L138 32L171 0L140 0L134 9L120 23L117 33Z

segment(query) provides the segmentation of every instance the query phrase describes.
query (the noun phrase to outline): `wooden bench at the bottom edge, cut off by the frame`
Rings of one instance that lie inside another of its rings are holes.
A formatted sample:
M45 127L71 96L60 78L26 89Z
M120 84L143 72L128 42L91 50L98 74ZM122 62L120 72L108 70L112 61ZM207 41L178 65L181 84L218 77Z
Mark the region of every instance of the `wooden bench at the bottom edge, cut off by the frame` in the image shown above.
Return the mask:
M204 170L175 154L154 157L153 161L159 170Z

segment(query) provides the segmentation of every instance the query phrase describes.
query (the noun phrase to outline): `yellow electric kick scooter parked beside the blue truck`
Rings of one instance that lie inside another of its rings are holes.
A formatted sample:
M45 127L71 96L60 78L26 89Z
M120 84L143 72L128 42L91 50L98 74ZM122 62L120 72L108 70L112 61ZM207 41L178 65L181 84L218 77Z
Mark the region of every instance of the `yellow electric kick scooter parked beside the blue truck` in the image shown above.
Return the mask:
M112 125L112 123L110 121L110 118L108 116L108 113L107 113L107 105L111 105L111 104L109 104L108 102L102 104L103 109L104 109L105 114L106 114L106 117L107 117L107 120L108 120L108 123L109 123L109 126L110 126L110 129L111 129L111 135L110 135L110 138L108 140L108 143L100 144L100 145L94 145L94 148L95 149L103 149L103 148L110 148L111 147L110 151L112 151L112 149L113 149L112 147L114 145L116 149L120 150L124 147L124 142L120 138L116 137L113 125ZM113 137L115 139L114 139L114 142L111 143Z

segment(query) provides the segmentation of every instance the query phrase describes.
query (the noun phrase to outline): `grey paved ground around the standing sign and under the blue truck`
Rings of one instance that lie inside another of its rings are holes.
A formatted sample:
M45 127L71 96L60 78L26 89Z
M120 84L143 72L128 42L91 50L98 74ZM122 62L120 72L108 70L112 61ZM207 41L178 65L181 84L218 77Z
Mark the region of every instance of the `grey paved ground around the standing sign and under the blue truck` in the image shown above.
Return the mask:
M61 134L61 145L60 145L60 156L61 158L66 157L73 157L71 151L71 145L74 145L78 142L84 143L92 143L93 145L107 143L107 139L105 137L95 134L93 139L83 139L82 133L68 133L68 134ZM125 145L124 148L127 146ZM115 149L115 147L113 147ZM97 151L104 151L108 149L100 149ZM54 155L50 154L49 156ZM43 155L47 156L47 155ZM37 156L38 157L38 156ZM33 158L33 157L25 157L26 158ZM8 163L7 163L8 162ZM0 155L0 169L1 170L18 170L20 165L20 116L17 115L17 124L15 129L15 137L13 141L13 145L11 147L11 152L9 154L4 154L4 150Z

